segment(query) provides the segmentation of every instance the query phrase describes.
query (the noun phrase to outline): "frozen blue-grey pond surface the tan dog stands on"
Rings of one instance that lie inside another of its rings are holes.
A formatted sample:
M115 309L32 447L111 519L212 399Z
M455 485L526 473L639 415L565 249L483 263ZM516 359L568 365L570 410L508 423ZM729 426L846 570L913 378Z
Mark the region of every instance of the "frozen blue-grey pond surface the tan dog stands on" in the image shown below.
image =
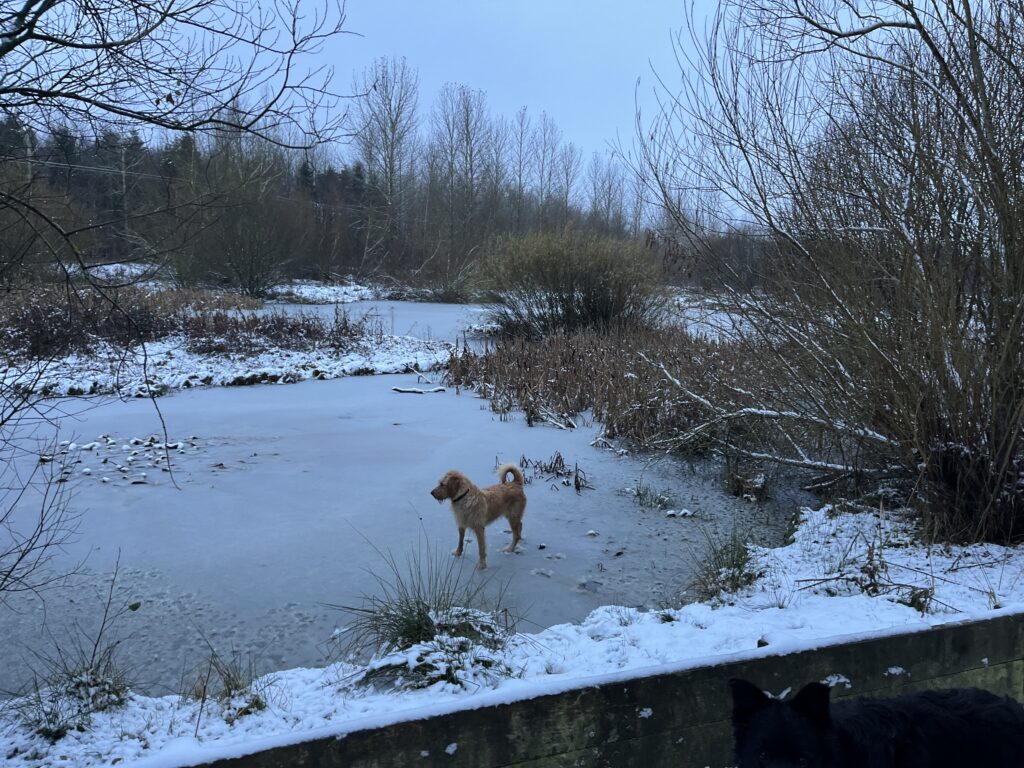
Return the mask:
M407 307L425 310L421 331L453 335L464 315L452 315L472 311L398 306L396 333L413 328L403 327ZM527 428L469 393L391 389L417 384L398 375L179 391L158 400L159 414L145 400L72 401L80 413L65 420L65 438L81 444L109 435L82 452L69 483L82 517L56 565L85 559L86 566L45 600L22 596L3 608L0 690L26 682L31 649L46 648L48 633L60 638L76 622L98 621L119 557L124 599L141 602L120 623L122 657L139 688L179 691L208 657L207 643L221 655L251 651L260 671L322 665L325 641L344 622L327 604L356 604L373 592L370 571L387 572L381 553L399 561L415 552L450 557L453 517L428 493L450 468L490 484L496 462L558 452L593 485L577 495L535 479L524 542L506 555L506 526L488 528L484 575L472 570L475 544L467 547L464 577L488 579L492 593L504 588L524 631L578 621L599 605L678 603L702 529L738 525L777 542L797 503L784 495L765 505L728 497L714 465L650 463L594 447L595 426ZM182 442L172 454L173 478L146 469L144 446L131 442L162 434L161 418L169 440ZM139 452L131 472L115 471L131 451ZM133 483L142 471L145 481ZM694 516L637 506L623 490L638 482L669 492Z

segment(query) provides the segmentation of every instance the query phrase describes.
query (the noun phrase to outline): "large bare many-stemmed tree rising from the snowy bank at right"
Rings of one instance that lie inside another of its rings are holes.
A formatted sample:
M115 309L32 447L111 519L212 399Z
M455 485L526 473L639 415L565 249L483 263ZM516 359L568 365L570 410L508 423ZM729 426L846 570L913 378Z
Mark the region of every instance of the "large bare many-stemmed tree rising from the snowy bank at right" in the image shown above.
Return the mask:
M772 254L766 294L731 297L768 384L690 391L695 432L905 480L943 537L1024 535L1022 29L1019 0L740 0L691 24L639 170L697 257L744 225Z

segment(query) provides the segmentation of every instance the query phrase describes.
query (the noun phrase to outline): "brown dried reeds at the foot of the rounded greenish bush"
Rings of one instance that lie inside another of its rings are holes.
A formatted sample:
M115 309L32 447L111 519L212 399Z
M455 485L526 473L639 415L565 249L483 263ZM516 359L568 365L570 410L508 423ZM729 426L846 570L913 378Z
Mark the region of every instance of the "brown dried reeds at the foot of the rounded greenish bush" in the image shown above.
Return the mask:
M590 412L609 439L649 450L707 452L716 434L690 434L703 409L666 373L724 395L730 388L763 385L760 370L733 345L672 327L499 339L482 352L453 352L445 376L450 385L486 396L496 413L524 412L529 424Z

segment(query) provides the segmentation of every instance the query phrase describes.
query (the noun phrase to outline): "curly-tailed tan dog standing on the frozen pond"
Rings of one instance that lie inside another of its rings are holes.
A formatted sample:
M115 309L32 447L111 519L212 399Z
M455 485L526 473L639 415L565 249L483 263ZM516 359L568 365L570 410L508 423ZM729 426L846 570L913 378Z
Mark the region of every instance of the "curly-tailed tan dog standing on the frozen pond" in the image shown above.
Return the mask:
M512 474L512 482L505 479L509 473ZM452 500L452 513L455 515L455 524L459 526L459 546L453 553L456 557L462 555L466 528L476 534L476 546L480 552L476 567L481 570L487 567L484 526L502 516L508 519L512 526L512 544L506 552L515 552L522 536L522 515L526 511L526 495L522 489L525 478L514 464L503 464L498 468L498 476L502 481L497 485L478 488L462 472L452 469L444 473L438 480L437 487L430 492L430 496L438 503L445 499Z

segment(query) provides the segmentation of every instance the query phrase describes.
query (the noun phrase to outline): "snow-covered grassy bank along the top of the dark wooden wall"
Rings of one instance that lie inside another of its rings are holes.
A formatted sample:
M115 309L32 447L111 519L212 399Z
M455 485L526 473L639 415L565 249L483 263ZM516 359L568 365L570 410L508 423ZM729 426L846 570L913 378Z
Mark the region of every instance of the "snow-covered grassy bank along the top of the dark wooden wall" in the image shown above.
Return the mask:
M262 709L194 696L128 694L89 727L56 742L0 714L0 755L11 768L153 765L243 755L344 734L406 717L525 698L599 680L755 656L843 636L910 631L997 609L1024 609L1024 551L992 545L928 547L907 513L845 506L804 510L791 544L751 547L750 584L710 601L642 612L607 606L585 621L500 644L413 643L369 665L276 672L253 682ZM374 671L445 667L425 687ZM368 675L374 681L368 685ZM724 684L724 681L723 681Z

